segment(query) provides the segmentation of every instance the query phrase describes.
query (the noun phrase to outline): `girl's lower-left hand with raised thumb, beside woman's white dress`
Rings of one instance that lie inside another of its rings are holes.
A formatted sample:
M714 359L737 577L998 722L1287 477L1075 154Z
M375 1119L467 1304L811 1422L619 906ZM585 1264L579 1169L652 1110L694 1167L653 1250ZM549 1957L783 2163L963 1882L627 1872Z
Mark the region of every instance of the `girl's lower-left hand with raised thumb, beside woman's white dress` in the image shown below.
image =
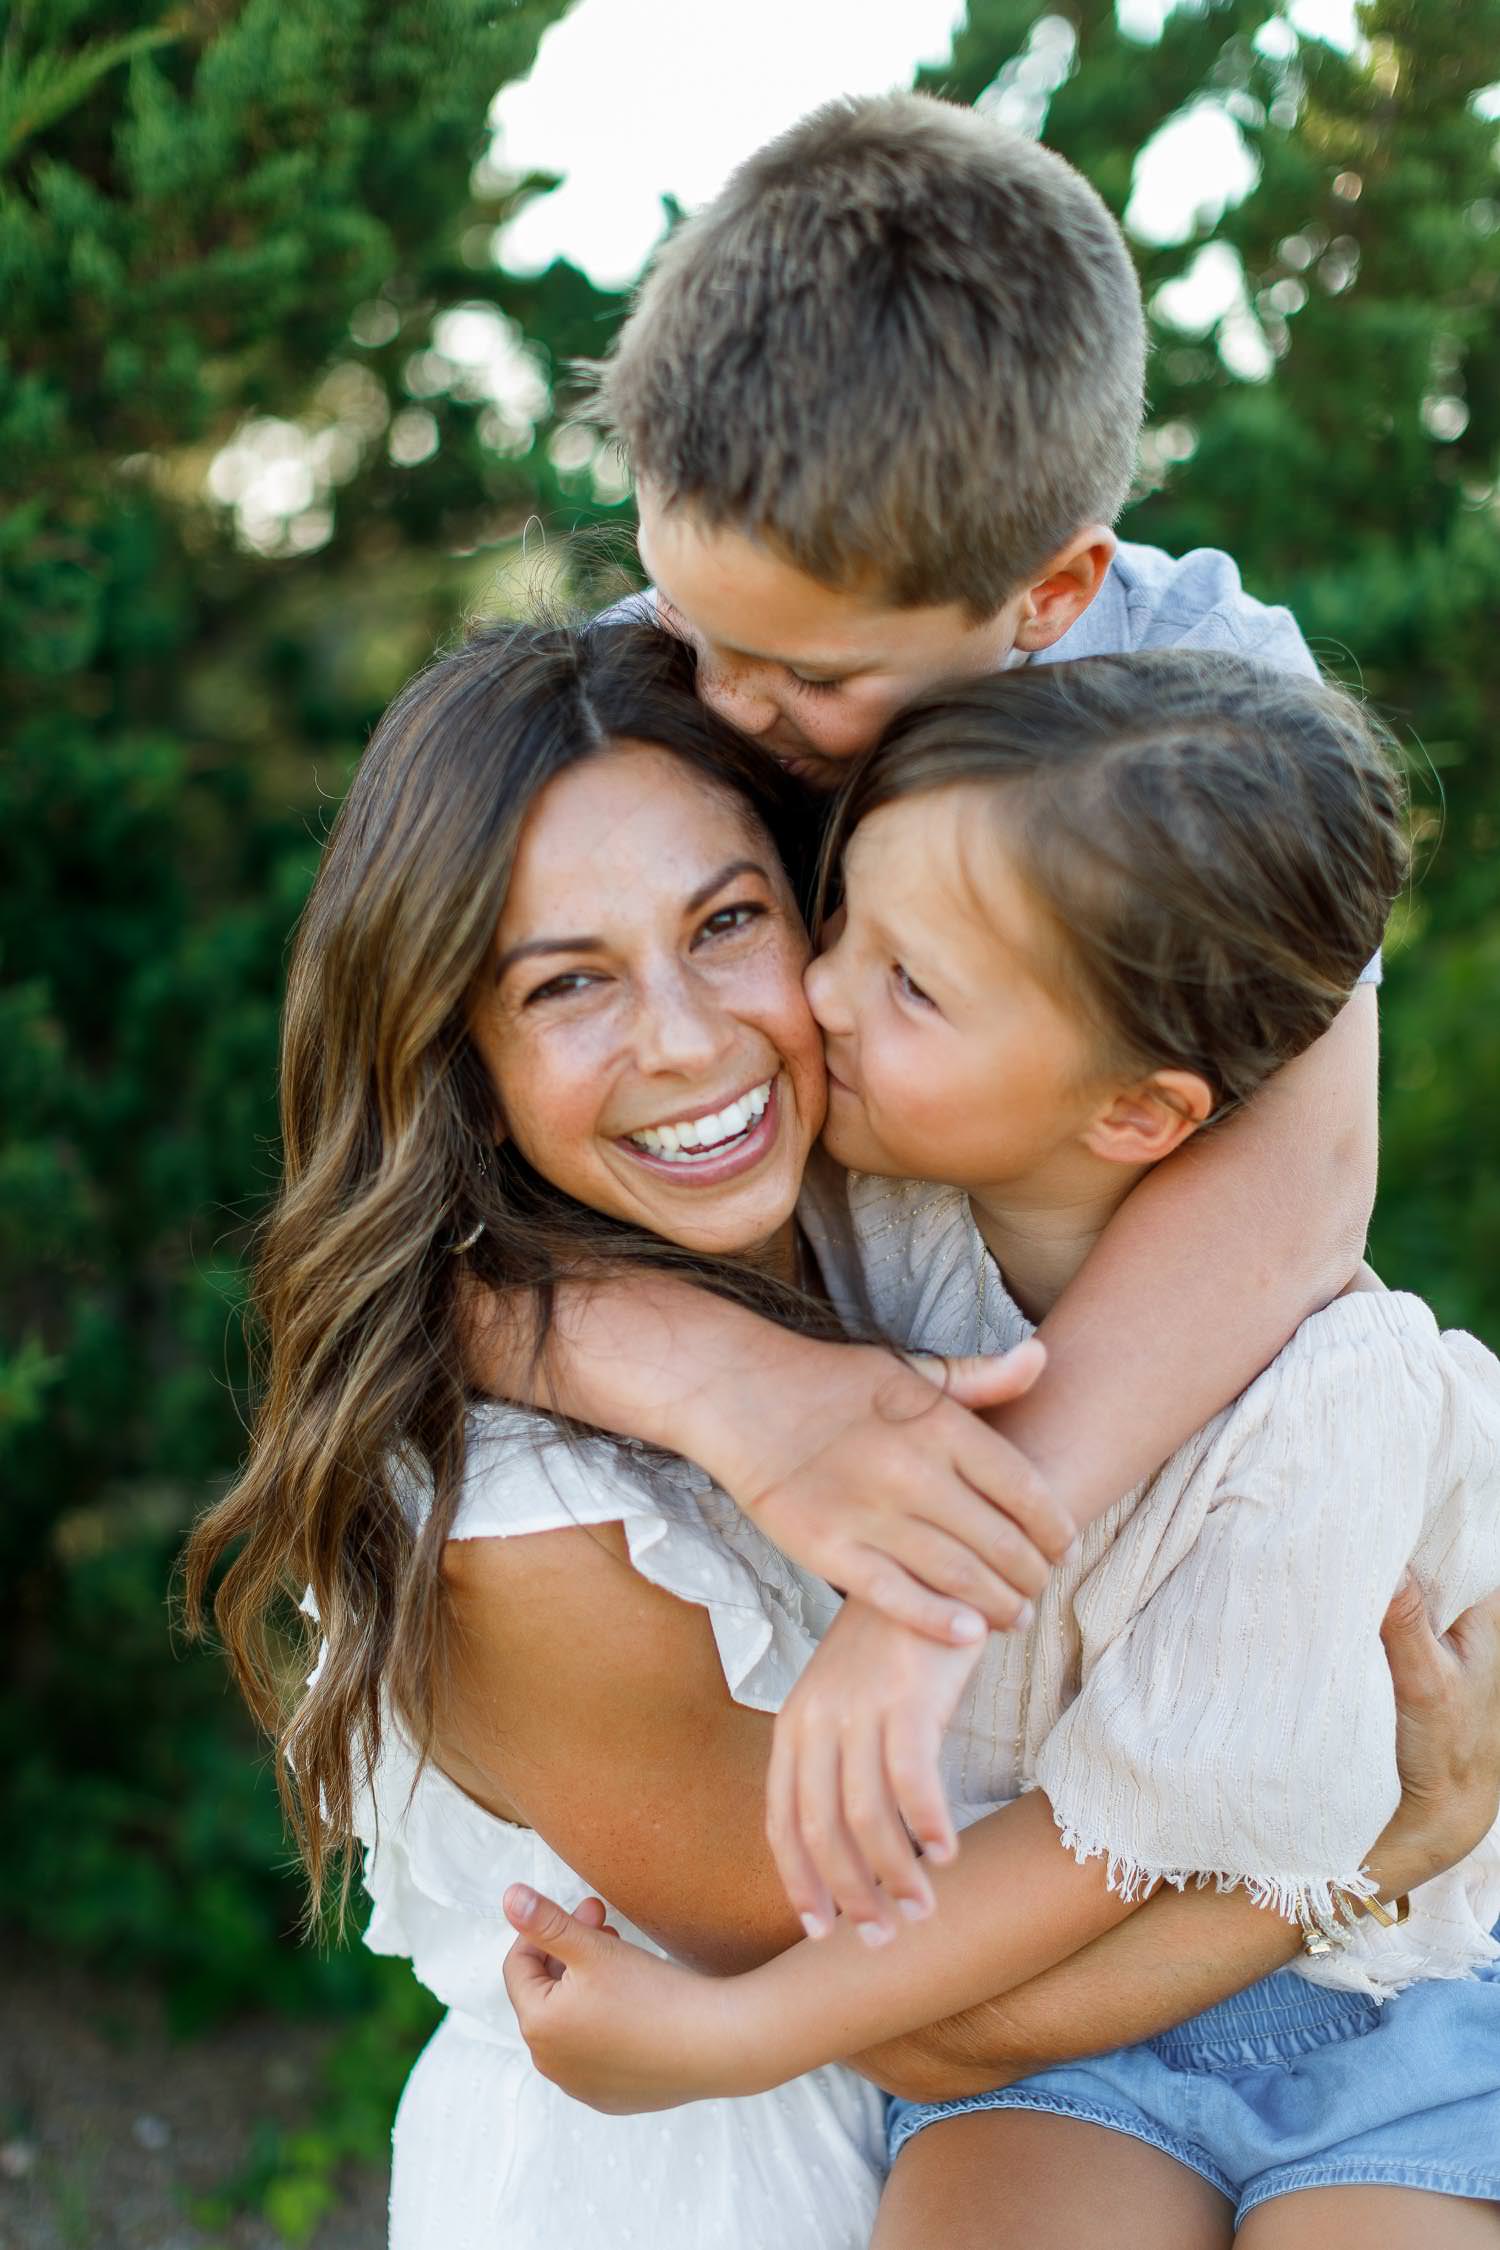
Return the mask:
M510 1883L506 1991L544 2079L589 2108L623 2117L675 2108L738 2084L733 1978L627 1944L605 1926L600 1899L569 1915L526 1883Z

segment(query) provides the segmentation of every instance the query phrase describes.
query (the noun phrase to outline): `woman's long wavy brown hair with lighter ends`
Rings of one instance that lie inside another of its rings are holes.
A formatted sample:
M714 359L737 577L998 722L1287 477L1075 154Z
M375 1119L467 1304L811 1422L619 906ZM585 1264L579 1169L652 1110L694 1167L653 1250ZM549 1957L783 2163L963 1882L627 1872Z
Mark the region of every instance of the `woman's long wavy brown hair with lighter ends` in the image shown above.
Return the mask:
M461 1287L531 1323L560 1280L650 1264L796 1325L821 1314L751 1267L704 1260L569 1202L495 1148L468 1004L537 792L643 740L735 792L794 880L814 814L771 758L697 700L690 650L650 623L486 628L380 720L328 839L290 965L283 1181L256 1269L263 1382L238 1483L184 1552L187 1618L236 1550L214 1616L277 1778L315 1904L394 1708L425 1757L441 1656L441 1552L470 1390ZM484 1222L472 1251L454 1244ZM412 1490L432 1496L412 1508ZM301 1692L283 1629L310 1588L322 1636Z

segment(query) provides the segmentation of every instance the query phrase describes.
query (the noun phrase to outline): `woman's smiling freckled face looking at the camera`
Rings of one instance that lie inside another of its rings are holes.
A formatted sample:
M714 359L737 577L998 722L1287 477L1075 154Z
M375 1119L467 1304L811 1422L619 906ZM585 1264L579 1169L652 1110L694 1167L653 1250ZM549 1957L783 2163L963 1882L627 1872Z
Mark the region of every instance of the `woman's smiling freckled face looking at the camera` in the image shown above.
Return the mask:
M470 1015L499 1123L576 1202L735 1256L792 1217L823 1123L807 936L767 832L650 742L537 796Z

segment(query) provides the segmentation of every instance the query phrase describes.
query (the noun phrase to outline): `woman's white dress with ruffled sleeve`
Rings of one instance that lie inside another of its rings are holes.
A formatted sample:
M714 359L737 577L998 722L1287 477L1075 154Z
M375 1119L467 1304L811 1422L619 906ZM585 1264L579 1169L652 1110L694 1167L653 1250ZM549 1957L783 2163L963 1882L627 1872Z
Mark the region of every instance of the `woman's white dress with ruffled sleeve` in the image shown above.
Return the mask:
M731 1694L778 1710L837 1609L828 1586L681 1460L607 1440L567 1447L544 1418L510 1408L475 1418L454 1537L609 1521L643 1577L708 1611ZM537 2074L501 1973L506 1883L564 1906L589 1886L436 1766L414 1786L398 1730L360 1834L376 1901L364 1942L405 1955L448 2005L396 2115L394 2250L864 2250L886 2169L873 2086L830 2068L742 2102L600 2117Z

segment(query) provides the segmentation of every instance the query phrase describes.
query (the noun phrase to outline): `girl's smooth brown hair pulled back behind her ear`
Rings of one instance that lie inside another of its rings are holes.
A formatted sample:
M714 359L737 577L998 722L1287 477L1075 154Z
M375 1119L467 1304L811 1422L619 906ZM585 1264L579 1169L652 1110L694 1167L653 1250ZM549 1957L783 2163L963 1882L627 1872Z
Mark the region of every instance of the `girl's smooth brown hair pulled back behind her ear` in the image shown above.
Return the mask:
M834 806L821 893L866 814L974 783L1106 1051L1194 1071L1217 1114L1329 1028L1408 873L1390 738L1352 695L1165 648L906 704Z

